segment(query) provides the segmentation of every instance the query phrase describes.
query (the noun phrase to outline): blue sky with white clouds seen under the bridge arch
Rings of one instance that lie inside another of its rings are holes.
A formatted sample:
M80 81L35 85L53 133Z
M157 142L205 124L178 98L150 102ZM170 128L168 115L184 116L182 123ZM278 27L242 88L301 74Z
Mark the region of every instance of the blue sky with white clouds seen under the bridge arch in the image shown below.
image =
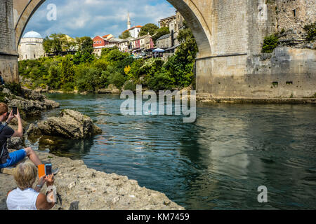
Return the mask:
M57 6L57 20L49 21L48 4ZM45 37L53 33L69 36L119 36L127 28L127 13L131 25L154 23L175 15L176 9L166 0L46 0L34 13L25 28Z

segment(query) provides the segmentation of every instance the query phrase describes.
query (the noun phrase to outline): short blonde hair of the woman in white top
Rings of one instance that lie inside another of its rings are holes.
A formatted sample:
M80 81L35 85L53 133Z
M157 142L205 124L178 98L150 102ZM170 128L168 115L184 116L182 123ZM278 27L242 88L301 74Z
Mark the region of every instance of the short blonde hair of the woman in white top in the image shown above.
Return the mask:
M21 190L32 188L37 179L37 167L29 162L21 163L15 168L13 176L18 188Z

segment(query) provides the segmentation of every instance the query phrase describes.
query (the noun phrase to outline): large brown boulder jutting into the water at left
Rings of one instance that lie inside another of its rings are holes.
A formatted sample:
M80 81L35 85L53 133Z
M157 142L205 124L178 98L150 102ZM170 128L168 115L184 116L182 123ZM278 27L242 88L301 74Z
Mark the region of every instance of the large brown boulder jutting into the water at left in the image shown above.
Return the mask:
M62 110L59 118L48 118L39 122L37 126L44 135L67 139L86 139L102 133L91 118L72 110Z

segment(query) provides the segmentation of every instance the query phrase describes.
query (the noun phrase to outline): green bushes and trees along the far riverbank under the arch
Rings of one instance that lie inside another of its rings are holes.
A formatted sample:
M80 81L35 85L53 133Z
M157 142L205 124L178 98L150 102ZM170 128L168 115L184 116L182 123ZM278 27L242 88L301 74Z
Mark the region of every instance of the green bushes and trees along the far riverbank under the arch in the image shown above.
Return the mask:
M105 48L99 59L83 56L86 51L81 50L66 57L20 61L19 71L23 78L32 82L27 87L33 89L97 92L108 85L134 90L137 84L151 90L182 88L191 85L194 78L197 45L190 29L181 30L178 40L180 47L166 62L154 58L133 59L117 48Z

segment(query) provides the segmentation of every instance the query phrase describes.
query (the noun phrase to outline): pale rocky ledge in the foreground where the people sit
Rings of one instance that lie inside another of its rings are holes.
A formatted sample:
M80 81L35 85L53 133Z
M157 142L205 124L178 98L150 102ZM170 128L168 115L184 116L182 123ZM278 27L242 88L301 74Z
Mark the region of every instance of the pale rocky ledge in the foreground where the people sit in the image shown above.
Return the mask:
M145 187L127 176L89 169L81 160L70 160L37 152L60 172L55 176L58 203L53 210L183 210L166 195ZM35 182L36 184L37 182ZM6 208L6 194L16 188L13 176L0 174L0 210ZM46 187L41 190L46 193Z

